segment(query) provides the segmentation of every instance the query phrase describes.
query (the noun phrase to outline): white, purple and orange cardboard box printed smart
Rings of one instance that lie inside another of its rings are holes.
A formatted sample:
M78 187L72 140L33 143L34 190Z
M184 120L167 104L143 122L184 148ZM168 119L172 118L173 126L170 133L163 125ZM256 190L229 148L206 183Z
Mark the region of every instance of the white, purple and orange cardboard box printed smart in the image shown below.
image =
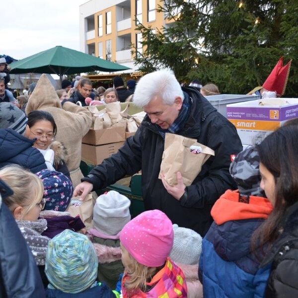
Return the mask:
M266 99L270 102L270 99ZM260 143L286 121L298 118L298 98L282 98L284 105L259 105L252 100L226 106L226 118L234 124L242 144Z

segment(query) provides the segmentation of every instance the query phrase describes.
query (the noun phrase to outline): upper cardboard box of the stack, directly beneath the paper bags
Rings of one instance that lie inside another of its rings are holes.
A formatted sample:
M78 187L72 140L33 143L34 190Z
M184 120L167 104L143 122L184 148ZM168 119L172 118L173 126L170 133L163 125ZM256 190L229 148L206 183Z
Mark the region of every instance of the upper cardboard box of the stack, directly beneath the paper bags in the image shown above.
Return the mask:
M104 145L122 141L125 141L125 127L90 129L82 139L82 143L89 145Z

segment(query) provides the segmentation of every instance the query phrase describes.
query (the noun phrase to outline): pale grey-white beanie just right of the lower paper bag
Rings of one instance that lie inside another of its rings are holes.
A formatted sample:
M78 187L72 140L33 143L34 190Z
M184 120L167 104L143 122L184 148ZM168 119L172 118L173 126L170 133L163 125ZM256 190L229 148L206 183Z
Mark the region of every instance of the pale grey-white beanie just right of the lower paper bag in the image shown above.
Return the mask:
M94 228L105 235L117 235L131 220L130 204L127 197L114 190L100 195L93 209Z

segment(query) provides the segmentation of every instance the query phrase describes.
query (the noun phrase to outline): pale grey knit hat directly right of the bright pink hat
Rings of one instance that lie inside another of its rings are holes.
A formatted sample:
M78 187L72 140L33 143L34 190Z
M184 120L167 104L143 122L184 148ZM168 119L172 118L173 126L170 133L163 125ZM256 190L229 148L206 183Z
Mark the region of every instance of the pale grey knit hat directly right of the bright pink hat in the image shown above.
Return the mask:
M199 263L202 251L202 237L190 228L179 227L173 224L174 244L170 253L170 258L185 265L195 265Z

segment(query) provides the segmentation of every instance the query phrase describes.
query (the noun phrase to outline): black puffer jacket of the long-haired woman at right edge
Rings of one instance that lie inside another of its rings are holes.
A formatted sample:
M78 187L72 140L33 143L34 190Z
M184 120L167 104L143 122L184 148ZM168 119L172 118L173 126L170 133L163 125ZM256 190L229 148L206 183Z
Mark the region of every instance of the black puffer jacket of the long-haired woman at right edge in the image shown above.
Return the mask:
M262 263L272 262L265 297L298 297L298 202L289 208L283 220L283 233Z

